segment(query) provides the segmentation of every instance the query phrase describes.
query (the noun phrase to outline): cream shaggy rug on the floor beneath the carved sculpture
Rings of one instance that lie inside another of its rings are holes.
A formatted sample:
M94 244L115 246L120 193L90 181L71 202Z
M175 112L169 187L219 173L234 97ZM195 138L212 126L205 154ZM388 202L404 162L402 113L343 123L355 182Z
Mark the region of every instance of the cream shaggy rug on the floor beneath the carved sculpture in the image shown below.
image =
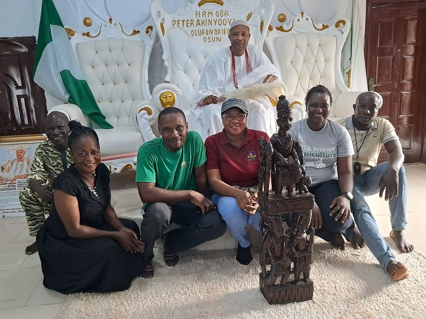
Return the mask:
M315 244L314 299L268 305L259 291L258 251L249 266L235 251L181 257L176 267L154 262L155 277L137 278L127 291L70 295L64 319L421 319L426 318L426 256L394 252L410 275L394 282L368 248Z

